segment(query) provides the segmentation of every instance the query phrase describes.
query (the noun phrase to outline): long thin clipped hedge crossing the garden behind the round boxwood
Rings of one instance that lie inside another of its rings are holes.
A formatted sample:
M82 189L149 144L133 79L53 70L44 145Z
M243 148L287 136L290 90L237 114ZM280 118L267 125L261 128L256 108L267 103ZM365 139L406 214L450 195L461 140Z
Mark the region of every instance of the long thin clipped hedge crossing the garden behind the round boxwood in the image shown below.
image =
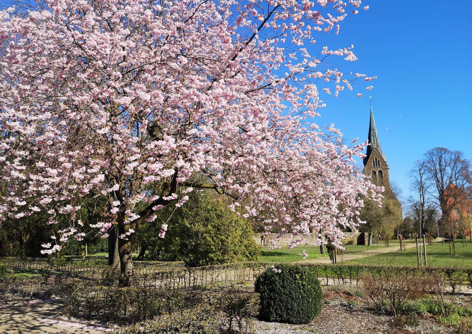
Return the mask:
M51 271L62 274L70 274L78 278L103 279L113 277L117 273L110 273L106 259L75 260L75 259L47 259L3 257L8 270L31 272L37 274L50 274ZM156 287L167 289L192 289L214 283L230 284L232 282L253 282L257 275L269 268L270 262L238 262L226 265L206 265L201 267L185 267L183 262L159 262L159 261L137 261L134 263L134 284L142 285L143 281L149 280ZM318 277L333 280L333 283L358 283L360 277L365 273L374 272L385 275L386 272L395 271L398 274L441 274L445 281L453 289L457 284L465 284L472 287L472 267L416 267L416 266L376 266L376 265L347 265L347 264L302 264L310 267ZM218 272L224 274L218 275ZM212 275L213 274L213 275ZM327 282L328 283L328 282ZM143 284L142 286L150 286Z

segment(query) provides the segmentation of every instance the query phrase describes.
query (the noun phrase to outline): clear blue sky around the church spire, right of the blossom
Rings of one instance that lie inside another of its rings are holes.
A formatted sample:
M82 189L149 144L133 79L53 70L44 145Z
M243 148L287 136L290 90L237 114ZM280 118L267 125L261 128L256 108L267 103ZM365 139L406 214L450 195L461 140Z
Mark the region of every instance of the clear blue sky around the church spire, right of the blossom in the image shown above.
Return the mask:
M370 82L371 91L360 90L362 98L354 91L337 98L321 92L327 107L314 121L335 123L345 137L365 140L372 96L390 180L407 195L405 174L427 150L441 146L472 159L472 20L467 9L439 0L362 1L365 5L370 9L348 15L337 36L318 34L311 51L354 44L358 60L335 65L378 79Z

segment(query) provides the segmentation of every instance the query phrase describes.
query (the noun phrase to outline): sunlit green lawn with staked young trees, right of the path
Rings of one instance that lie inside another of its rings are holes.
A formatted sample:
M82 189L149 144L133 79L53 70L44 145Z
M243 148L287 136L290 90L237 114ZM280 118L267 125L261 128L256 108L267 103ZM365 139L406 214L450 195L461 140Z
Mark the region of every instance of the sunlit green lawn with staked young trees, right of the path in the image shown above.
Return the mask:
M414 243L414 240L413 240ZM390 243L391 245L391 243ZM455 240L455 254L449 255L449 245L444 246L442 242L435 242L432 245L426 245L428 254L428 265L431 266L472 266L472 245L463 247L462 240ZM451 244L452 250L452 244ZM424 254L423 254L424 257ZM423 260L424 261L424 260ZM371 265L418 265L416 257L416 247L408 248L405 251L396 251L371 257L363 257L346 261L348 264L371 264Z

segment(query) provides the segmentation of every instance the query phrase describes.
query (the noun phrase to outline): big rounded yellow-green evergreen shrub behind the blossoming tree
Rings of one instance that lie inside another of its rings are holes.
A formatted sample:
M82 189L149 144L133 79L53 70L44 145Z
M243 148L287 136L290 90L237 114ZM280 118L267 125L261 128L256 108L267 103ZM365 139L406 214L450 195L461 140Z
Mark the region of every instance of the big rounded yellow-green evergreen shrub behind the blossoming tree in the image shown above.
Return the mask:
M181 207L165 206L156 221L143 223L137 238L147 249L147 260L184 261L188 265L215 265L258 261L260 246L253 240L253 224L228 208L222 196L191 192ZM162 224L168 224L164 239Z

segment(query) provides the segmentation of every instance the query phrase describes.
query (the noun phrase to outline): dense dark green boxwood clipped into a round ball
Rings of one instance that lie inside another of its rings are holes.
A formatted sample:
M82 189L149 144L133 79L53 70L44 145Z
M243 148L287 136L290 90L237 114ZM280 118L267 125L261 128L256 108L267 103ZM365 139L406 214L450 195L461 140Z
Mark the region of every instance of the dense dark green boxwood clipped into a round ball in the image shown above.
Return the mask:
M308 324L321 312L322 292L317 275L308 266L279 264L255 282L261 295L260 317L289 324Z

